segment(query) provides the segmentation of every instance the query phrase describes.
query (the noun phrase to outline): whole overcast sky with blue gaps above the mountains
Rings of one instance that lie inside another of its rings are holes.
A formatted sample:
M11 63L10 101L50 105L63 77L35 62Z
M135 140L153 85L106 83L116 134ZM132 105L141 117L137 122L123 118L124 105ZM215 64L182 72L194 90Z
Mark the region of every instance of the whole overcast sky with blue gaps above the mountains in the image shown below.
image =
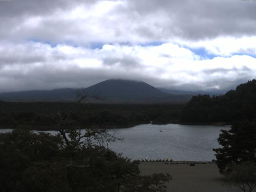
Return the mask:
M256 78L255 0L0 0L0 92Z

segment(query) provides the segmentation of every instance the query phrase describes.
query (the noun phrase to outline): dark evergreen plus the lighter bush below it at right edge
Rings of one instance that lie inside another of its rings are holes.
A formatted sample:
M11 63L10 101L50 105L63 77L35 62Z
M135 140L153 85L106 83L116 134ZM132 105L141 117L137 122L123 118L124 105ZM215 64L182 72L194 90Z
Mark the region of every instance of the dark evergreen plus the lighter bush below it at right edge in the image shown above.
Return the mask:
M218 142L222 148L213 150L225 184L252 192L256 187L256 123L234 122L230 130L221 130Z

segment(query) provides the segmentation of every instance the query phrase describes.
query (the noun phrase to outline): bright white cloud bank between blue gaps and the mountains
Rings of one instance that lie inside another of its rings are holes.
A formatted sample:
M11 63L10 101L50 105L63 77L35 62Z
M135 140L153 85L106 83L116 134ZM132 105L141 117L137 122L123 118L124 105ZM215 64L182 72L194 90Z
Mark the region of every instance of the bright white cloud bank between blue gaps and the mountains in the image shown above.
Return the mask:
M189 49L172 43L106 44L101 49L89 49L2 42L0 69L1 92L81 88L109 78L142 80L153 86L182 90L226 90L241 83L240 79L255 78L256 59L235 55L202 60Z

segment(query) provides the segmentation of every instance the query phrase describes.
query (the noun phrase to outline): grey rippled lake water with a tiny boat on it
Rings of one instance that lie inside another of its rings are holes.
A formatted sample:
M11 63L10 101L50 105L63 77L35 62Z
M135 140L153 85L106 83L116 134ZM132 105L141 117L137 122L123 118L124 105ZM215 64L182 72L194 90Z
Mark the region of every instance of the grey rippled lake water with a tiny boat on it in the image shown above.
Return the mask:
M212 148L220 147L217 138L221 129L228 130L230 126L142 124L132 128L117 129L116 136L124 140L112 142L109 147L133 160L172 158L211 161L214 159ZM10 129L0 129L0 132L6 131Z

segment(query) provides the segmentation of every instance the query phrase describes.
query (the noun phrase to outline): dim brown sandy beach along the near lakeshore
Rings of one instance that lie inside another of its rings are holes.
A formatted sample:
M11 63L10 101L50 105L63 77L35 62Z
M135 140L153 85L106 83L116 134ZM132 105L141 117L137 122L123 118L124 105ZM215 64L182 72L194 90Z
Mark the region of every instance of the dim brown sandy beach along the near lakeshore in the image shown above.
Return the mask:
M140 162L142 175L168 173L172 181L166 183L168 192L240 192L236 187L223 185L216 164L165 164L165 162Z

